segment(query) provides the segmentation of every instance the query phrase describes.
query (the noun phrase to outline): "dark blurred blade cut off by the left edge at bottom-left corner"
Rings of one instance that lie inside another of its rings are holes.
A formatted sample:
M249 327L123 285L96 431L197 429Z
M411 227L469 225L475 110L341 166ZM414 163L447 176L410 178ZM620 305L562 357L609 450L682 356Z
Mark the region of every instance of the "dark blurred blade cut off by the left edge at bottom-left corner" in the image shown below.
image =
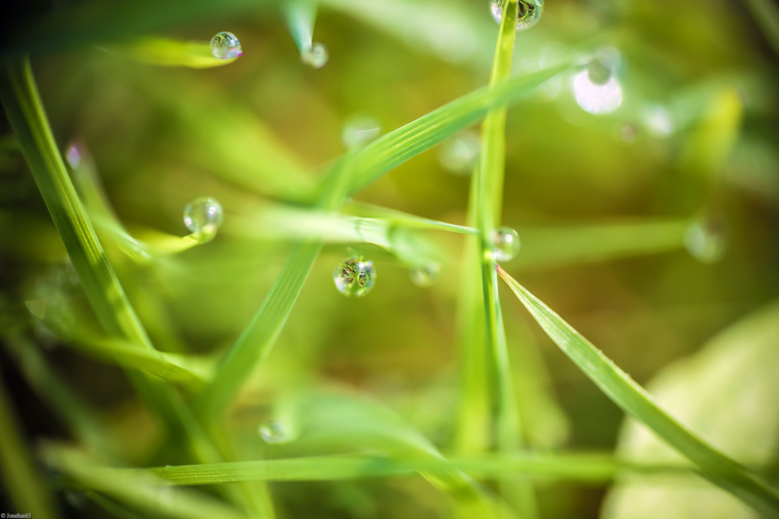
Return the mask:
M11 408L5 384L0 378L0 476L7 496L23 513L32 517L55 517L51 496L38 474L30 451L19 433L16 416Z

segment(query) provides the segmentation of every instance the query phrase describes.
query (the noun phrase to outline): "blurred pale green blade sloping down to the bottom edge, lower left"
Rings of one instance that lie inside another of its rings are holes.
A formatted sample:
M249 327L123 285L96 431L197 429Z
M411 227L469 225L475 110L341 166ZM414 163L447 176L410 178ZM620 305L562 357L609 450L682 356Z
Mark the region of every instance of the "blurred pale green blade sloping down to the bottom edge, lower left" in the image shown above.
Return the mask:
M211 496L166 487L164 482L150 474L122 472L119 474L121 477L116 477L117 474L111 468L100 465L72 447L47 444L42 454L48 465L73 479L82 488L104 493L147 514L176 519L246 517Z

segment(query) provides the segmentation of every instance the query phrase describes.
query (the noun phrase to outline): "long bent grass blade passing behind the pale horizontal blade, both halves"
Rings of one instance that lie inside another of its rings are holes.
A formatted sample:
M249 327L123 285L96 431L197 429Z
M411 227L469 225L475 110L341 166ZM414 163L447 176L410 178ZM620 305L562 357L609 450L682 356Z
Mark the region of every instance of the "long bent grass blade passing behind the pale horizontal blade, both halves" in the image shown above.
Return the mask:
M337 209L349 191L374 181L404 160L454 135L483 117L490 108L516 100L521 94L566 70L568 66L563 63L477 90L383 135L365 148L347 153L324 177L316 207ZM359 181L355 182L354 178ZM266 358L284 328L321 247L319 243L303 243L293 247L252 322L235 342L211 384L198 399L199 416L213 418L223 412L249 374Z

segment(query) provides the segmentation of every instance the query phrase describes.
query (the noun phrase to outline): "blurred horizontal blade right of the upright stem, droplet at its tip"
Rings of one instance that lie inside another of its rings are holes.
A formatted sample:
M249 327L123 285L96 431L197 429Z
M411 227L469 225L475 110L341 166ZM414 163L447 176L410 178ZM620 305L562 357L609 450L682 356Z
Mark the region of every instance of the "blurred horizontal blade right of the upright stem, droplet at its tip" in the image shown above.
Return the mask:
M645 219L599 225L520 227L517 268L611 261L684 247L689 219Z

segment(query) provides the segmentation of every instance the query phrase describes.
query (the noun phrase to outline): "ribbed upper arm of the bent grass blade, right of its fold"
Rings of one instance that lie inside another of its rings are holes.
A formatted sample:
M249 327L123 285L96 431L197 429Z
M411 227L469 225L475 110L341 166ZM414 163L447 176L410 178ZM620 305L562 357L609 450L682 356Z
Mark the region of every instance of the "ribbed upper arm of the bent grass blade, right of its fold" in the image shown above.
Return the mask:
M485 117L489 110L519 100L569 66L568 61L563 61L538 72L495 82L382 135L355 153L352 167L356 174L349 191L365 187L387 171Z

